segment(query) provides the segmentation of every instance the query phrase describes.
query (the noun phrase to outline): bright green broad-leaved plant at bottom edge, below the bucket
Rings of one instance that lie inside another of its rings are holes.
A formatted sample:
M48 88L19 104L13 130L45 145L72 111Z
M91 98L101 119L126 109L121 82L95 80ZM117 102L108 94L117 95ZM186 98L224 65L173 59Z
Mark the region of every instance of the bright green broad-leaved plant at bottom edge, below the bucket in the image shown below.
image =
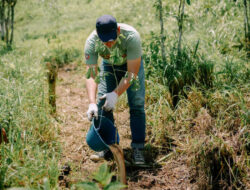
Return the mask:
M111 182L113 176L114 173L109 172L108 164L105 162L99 167L99 170L93 174L93 180L95 182L80 182L76 185L76 188L84 190L119 190L126 187L126 185L118 181Z

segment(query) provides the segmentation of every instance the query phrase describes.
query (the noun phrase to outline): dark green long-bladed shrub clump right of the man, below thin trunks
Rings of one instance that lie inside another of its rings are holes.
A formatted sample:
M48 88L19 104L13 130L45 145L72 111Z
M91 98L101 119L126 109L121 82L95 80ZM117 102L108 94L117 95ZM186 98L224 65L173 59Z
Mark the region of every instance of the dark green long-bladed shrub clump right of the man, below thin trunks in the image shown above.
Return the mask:
M172 95L176 107L179 95L186 96L185 87L191 85L210 88L213 86L214 64L205 56L197 54L198 43L194 51L188 46L180 52L173 46L164 70L164 82Z

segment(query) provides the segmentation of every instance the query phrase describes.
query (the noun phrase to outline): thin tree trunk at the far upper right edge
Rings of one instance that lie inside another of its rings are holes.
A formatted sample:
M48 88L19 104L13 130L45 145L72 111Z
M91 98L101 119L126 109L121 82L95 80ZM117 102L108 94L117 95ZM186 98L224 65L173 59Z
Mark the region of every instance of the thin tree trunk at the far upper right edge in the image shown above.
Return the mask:
M249 14L249 2L247 0L243 0L244 3L244 30L245 30L245 42L246 42L246 51L247 51L247 57L250 58L250 26L249 26L249 20L248 20L248 14Z

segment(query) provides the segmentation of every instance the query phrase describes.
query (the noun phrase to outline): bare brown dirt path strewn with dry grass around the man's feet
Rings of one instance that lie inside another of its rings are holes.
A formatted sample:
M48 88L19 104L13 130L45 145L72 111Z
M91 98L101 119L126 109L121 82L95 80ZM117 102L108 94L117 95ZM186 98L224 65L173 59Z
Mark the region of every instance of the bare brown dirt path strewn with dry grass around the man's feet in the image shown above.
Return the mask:
M67 189L71 184L91 180L91 174L102 163L89 159L94 152L90 150L85 141L90 122L86 117L88 97L84 76L83 66L74 63L59 69L58 73L57 120L63 154L60 165L64 173L59 177L61 189ZM128 108L116 111L115 117L120 134L120 145L124 149L125 158L128 158L131 142ZM154 156L150 154L153 153L151 149L151 152L147 154L149 156L147 160L156 161L169 153L161 151L157 147L154 147L155 152ZM166 159L157 167L127 167L128 189L197 189L196 180L192 177L194 175L186 160L188 159L185 156L179 156ZM115 166L114 161L110 161L109 165Z

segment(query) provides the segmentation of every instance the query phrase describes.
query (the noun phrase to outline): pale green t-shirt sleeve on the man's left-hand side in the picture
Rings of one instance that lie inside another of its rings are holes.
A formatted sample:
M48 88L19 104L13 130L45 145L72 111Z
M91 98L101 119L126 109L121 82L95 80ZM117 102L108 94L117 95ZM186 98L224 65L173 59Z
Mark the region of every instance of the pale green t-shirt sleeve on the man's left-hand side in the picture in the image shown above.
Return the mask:
M88 37L84 47L85 63L87 65L97 64L98 53L95 51L95 37L93 33Z

